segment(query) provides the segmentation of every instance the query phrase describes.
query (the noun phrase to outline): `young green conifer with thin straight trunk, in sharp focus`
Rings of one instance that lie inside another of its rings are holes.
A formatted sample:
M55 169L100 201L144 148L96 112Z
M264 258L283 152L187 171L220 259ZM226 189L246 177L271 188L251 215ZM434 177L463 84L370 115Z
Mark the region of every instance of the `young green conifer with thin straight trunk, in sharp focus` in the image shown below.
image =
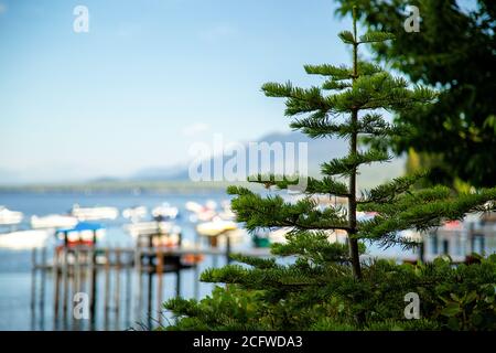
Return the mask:
M203 281L227 284L226 288L217 288L212 298L201 303L183 299L169 301L165 308L181 317L176 328L315 328L312 327L315 324L313 317L335 314L341 318L341 313L346 312L346 308L333 301L339 293L353 297L355 310L348 317L360 325L368 310L364 307L367 296L360 287L362 243L411 246L411 240L398 235L399 231L423 231L448 220L461 220L467 212L494 207L487 202L496 199L496 190L453 195L444 186L412 189L421 174L398 178L357 195L358 168L390 159L380 143L368 143L368 150L359 148L359 138L380 140L405 133L385 121L379 113L429 104L435 99L435 93L420 86L411 89L405 79L359 60L358 50L363 44L390 41L393 39L390 33L358 35L354 14L353 32L342 32L339 39L353 50L351 66L304 67L308 74L324 78L320 87L268 83L262 90L269 97L285 98L285 115L295 117L291 122L293 129L312 138L345 138L349 141L348 154L322 164L323 178L308 178L305 197L294 203L285 202L279 195L261 196L246 188L228 189L228 193L235 195L231 206L237 221L245 223L249 232L291 227L287 243L272 245L271 253L293 260L281 264L274 258L235 256L236 260L249 266L229 265L205 271ZM346 120L339 120L339 116L345 116ZM296 183L289 178L265 176L259 175L257 181L277 189L288 189ZM347 207L319 208L312 197L315 194L346 197ZM376 212L377 215L373 220L358 221L357 211ZM327 240L330 233L336 229L347 233L346 245Z

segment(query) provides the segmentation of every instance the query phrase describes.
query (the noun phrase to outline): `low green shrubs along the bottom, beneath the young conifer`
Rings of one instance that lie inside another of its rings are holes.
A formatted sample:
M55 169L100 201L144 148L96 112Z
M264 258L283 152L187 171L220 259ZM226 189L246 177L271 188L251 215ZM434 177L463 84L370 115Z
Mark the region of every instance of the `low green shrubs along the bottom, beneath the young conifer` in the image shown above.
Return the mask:
M233 267L234 268L234 267ZM240 271L246 269L238 268ZM216 287L211 297L174 299L165 307L183 315L169 330L495 330L496 255L473 265L396 265L378 260L363 270L349 268L280 300L265 290ZM211 280L211 274L203 275ZM284 285L281 284L281 291ZM405 295L420 297L420 319L406 320ZM356 318L364 315L363 324Z

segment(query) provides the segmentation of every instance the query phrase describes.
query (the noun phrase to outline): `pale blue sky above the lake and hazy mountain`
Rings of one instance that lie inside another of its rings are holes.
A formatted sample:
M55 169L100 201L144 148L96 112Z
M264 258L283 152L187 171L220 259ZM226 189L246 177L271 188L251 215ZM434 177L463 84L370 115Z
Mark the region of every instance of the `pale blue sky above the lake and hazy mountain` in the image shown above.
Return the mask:
M89 10L75 33L73 9ZM268 81L348 62L331 0L0 0L0 182L126 176L288 130Z

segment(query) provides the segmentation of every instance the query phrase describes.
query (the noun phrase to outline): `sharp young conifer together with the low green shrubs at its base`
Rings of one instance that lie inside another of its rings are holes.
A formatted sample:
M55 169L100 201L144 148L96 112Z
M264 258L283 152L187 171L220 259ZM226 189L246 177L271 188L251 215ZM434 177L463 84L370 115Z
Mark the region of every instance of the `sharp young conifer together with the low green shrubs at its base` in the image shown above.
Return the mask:
M461 220L467 212L495 208L496 189L460 195L445 186L414 189L424 173L398 178L357 196L358 168L385 162L382 148L359 147L363 137L406 133L388 124L381 109L406 111L435 100L435 93L396 78L379 66L359 60L358 47L382 43L393 36L385 32L339 39L353 49L352 66L306 65L323 76L321 86L300 88L291 83L263 85L267 96L285 98L291 126L322 138L338 136L349 141L349 153L322 165L322 179L308 179L305 197L288 202L274 194L261 196L242 186L230 186L231 206L247 229L291 227L285 244L271 248L274 258L237 256L242 265L209 269L207 282L226 284L212 297L173 299L165 303L179 318L169 329L179 330L489 330L495 328L496 257L479 264L453 267L443 259L427 265L396 265L384 260L364 263L365 243L381 246L414 246L398 231L419 231ZM342 119L345 116L345 119ZM303 178L303 176L301 176ZM345 183L344 181L347 181ZM290 189L294 181L259 175L257 182L272 189ZM346 197L348 207L321 208L312 196ZM374 211L368 221L357 211ZM347 244L328 242L334 231L348 234ZM420 320L405 318L405 296L420 298Z

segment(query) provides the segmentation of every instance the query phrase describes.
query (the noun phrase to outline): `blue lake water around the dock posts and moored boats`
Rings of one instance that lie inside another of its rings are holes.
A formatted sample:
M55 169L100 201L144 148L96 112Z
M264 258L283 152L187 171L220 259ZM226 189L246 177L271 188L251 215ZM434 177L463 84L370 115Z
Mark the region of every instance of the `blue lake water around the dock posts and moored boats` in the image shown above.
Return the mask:
M220 203L228 199L229 196L222 192L168 194L0 193L0 205L4 205L9 210L23 212L24 220L29 221L32 215L66 213L75 203L80 206L114 206L120 211L143 205L150 211L163 202L168 202L180 210L176 224L182 228L183 239L194 240L196 238L195 224L188 218L188 212L184 207L185 203L195 201L204 204L208 200ZM133 239L122 228L126 220L119 217L116 221L103 223L106 226L106 236L99 245L109 247L133 246ZM28 227L28 224L23 224L21 227ZM245 244L235 246L234 250L250 246L249 237L245 240ZM490 252L496 249L496 242L493 240L487 243ZM399 247L382 250L370 246L368 253L374 256L398 256L399 254L416 256L412 252L401 253ZM115 296L116 292L120 295L116 297L117 299L111 308L104 307L101 298L97 300L96 321L93 324L88 320L71 320L71 314L67 314L62 321L60 318L55 319L53 276L51 272L46 272L45 277L37 274L34 277L36 286L33 287L31 255L31 250L0 248L0 330L127 330L154 325L159 319L162 319L162 322L171 320L171 317L160 309L160 302L175 296L177 286L175 274L165 274L162 280L163 289L157 291L155 289L161 287L158 285L157 278L147 285L147 275L139 276L134 270L123 270L118 275L111 274L109 280L104 276L105 274L98 274L97 285L100 291L106 288L106 282L109 281L108 291L111 296ZM206 256L197 269L184 270L179 278L181 296L202 298L208 295L213 285L198 284L196 280L198 274L207 267L225 264L226 259L223 256ZM143 303L143 296L147 297L143 287L147 288L149 285L155 288L149 291L151 292L149 297L150 302L152 302L151 306ZM36 288L34 293L32 292L33 288ZM105 293L107 293L107 289ZM99 297L103 296L104 293L100 292ZM153 321L150 321L150 318Z

